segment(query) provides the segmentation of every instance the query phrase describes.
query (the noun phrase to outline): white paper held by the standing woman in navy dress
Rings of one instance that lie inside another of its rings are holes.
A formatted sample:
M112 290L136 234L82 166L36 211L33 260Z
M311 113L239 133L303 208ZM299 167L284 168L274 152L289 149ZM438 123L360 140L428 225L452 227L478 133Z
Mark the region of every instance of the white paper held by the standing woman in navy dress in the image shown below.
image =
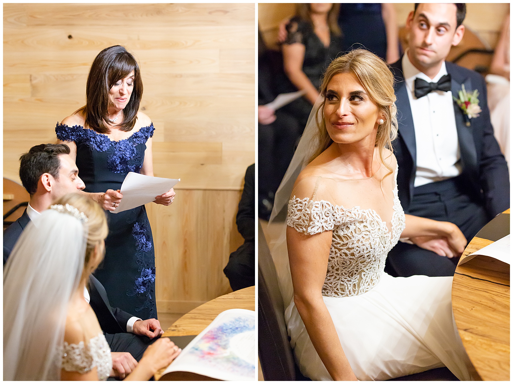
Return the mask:
M112 213L127 211L129 209L151 203L155 196L160 196L173 188L180 179L152 177L140 173L128 172L121 185L123 198Z

